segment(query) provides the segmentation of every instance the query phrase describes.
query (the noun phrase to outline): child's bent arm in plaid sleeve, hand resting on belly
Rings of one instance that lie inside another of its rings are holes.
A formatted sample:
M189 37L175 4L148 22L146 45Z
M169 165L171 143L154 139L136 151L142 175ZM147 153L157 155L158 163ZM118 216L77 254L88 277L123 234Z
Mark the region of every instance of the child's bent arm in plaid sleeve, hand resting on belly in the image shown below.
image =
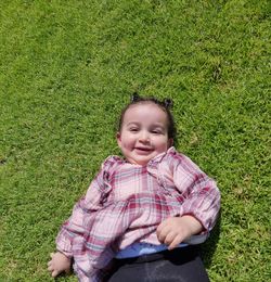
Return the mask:
M184 155L175 153L171 156L170 170L184 200L180 216L168 218L158 226L157 238L169 248L199 233L203 236L199 241L205 241L219 213L219 190L215 181Z

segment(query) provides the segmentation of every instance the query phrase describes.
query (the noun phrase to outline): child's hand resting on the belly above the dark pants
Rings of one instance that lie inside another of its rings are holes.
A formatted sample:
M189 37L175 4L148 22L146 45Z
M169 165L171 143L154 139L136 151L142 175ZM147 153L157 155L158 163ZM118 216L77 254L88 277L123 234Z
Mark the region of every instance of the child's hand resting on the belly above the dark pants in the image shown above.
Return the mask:
M160 243L168 245L168 249L172 249L202 230L202 223L193 216L170 217L157 227L156 234Z

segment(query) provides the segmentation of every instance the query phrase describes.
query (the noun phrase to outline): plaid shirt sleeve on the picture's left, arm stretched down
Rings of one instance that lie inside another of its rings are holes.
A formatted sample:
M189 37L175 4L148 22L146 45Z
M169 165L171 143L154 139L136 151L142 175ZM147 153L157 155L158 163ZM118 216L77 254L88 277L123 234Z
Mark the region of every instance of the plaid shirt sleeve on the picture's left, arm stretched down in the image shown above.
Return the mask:
M108 157L99 174L90 183L87 193L74 206L72 216L63 223L56 236L56 249L67 257L73 257L73 242L85 233L85 217L100 209L106 201L111 190L108 183L108 168L113 165L113 157Z

